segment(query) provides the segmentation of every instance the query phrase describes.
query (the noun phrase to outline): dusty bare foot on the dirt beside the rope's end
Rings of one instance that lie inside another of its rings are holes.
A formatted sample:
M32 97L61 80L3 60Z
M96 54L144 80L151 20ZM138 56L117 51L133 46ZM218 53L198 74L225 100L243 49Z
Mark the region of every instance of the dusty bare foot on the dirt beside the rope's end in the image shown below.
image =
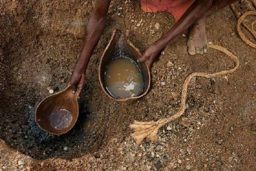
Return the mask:
M187 47L190 55L202 55L207 52L208 42L205 34L205 19L200 19L191 26Z

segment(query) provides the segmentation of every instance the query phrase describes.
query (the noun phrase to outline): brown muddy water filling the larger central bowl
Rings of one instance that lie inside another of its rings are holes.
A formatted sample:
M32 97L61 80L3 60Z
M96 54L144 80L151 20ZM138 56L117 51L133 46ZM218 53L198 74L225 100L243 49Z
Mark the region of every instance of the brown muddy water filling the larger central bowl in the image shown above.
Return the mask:
M134 97L143 91L143 76L134 61L116 58L106 67L105 85L115 98Z

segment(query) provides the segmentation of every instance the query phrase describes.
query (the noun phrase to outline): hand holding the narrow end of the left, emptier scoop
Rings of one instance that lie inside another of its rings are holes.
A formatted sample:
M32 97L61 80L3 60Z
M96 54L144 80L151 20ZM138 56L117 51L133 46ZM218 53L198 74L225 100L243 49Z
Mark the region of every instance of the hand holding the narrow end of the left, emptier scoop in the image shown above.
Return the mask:
M76 93L77 98L80 98L80 94L83 89L85 78L86 78L86 74L84 74L83 72L79 73L74 71L71 76L71 79L68 85L71 85L73 93Z

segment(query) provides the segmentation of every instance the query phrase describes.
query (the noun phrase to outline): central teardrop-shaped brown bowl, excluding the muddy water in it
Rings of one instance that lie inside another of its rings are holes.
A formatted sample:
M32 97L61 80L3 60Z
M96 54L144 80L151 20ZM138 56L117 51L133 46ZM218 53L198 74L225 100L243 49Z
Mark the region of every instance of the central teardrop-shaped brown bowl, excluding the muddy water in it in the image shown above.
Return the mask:
M103 55L101 56L101 60L99 62L99 69L98 69L98 76L99 76L99 83L101 84L102 90L108 95L109 98L119 101L132 101L138 98L143 97L147 94L148 90L150 89L150 69L148 68L147 63L138 63L137 60L141 57L140 51L131 44L130 40L128 39L128 31L123 33L121 30L116 29L113 31L111 40L109 41L108 46L106 47ZM129 98L115 98L111 94L109 94L108 90L106 90L105 81L104 81L104 74L106 71L106 66L108 65L109 61L115 59L118 55L118 48L122 49L122 53L126 56L129 56L132 60L137 62L138 67L140 67L141 74L143 76L144 87L143 91L135 96Z

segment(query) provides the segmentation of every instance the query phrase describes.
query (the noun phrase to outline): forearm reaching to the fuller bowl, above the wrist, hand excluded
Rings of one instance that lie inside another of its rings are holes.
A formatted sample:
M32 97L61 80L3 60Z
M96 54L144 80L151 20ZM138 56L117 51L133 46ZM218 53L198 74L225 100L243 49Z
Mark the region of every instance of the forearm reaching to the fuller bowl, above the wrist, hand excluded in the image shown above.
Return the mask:
M184 30L189 29L189 27L194 24L195 21L200 19L200 17L202 17L202 15L204 15L209 8L211 8L211 1L195 1L193 5L187 9L180 20L172 27L172 29L159 38L154 45L158 49L165 48L169 41L173 40L173 38L182 33Z

